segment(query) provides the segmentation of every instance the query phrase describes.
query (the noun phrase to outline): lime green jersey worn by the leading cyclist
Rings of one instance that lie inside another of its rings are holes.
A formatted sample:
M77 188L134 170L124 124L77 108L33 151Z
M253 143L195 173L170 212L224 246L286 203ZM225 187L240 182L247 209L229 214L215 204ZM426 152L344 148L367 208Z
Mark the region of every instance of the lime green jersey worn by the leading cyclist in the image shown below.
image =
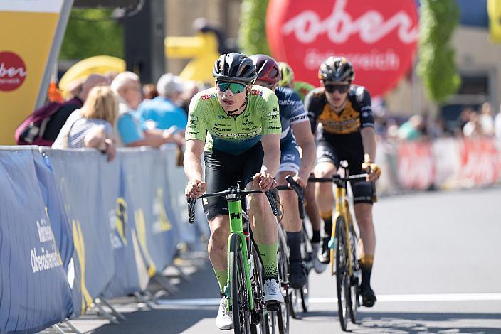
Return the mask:
M268 88L253 85L245 111L229 116L219 104L216 88L199 92L191 99L186 140L204 141L204 151L241 154L265 134L281 134L278 99Z

